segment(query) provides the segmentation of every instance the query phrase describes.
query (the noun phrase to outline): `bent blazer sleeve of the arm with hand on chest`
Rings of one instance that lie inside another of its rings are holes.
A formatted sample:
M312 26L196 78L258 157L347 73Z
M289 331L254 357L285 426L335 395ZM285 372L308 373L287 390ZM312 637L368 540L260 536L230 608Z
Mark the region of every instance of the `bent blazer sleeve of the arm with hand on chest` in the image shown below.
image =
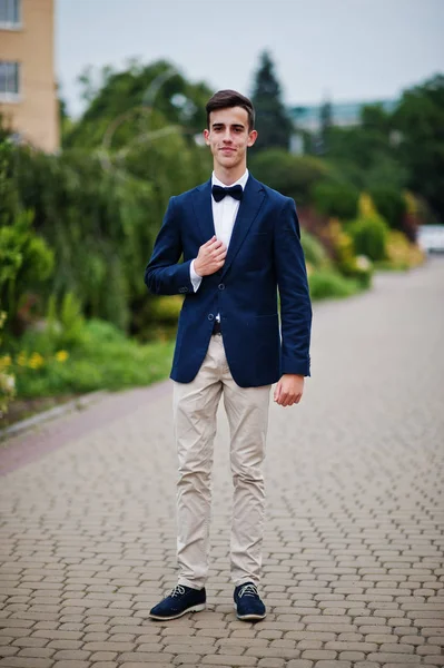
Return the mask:
M194 292L189 272L191 261L178 264L184 248L175 199L171 197L169 200L151 259L145 269L145 283L156 295Z

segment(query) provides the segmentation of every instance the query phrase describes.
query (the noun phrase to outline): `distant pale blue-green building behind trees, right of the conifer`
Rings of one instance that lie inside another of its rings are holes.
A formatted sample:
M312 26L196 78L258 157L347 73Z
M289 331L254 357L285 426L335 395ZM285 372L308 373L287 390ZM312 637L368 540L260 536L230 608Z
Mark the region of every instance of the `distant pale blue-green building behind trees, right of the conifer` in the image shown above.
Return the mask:
M361 111L368 105L382 105L385 111L393 111L397 100L375 100L366 102L332 102L332 122L335 126L354 126L361 121ZM320 129L323 105L290 107L289 115L297 130L317 132Z

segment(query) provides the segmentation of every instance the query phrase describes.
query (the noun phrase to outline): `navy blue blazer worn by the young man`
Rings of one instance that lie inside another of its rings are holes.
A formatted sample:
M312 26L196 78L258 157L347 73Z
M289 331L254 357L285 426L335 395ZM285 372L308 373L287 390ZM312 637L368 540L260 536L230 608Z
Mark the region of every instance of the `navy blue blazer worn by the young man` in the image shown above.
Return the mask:
M190 264L214 234L211 180L170 198L145 271L150 292L185 295L170 377L194 380L218 313L239 386L268 385L284 373L309 375L312 306L294 200L249 176L225 265L195 293Z

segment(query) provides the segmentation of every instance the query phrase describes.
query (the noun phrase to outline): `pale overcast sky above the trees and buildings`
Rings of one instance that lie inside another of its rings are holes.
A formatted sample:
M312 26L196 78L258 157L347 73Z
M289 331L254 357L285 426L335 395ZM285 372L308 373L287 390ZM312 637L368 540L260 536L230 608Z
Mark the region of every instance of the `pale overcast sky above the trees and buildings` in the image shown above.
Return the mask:
M396 99L444 73L443 35L444 0L56 0L56 72L75 117L87 66L166 59L250 95L264 49L286 105Z

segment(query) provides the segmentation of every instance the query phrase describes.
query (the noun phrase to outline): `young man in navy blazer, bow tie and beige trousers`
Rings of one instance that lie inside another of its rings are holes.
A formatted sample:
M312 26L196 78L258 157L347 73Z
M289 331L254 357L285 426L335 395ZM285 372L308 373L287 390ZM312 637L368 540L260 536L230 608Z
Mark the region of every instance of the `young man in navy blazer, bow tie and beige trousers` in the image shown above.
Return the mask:
M205 608L213 442L224 394L235 607L239 619L258 620L265 617L257 586L269 391L277 382L274 400L282 406L300 401L309 375L312 308L295 204L247 170L247 148L257 137L251 102L220 90L206 109L213 176L171 197L145 273L152 293L185 295L171 370L180 570L178 584L150 617L175 619Z

